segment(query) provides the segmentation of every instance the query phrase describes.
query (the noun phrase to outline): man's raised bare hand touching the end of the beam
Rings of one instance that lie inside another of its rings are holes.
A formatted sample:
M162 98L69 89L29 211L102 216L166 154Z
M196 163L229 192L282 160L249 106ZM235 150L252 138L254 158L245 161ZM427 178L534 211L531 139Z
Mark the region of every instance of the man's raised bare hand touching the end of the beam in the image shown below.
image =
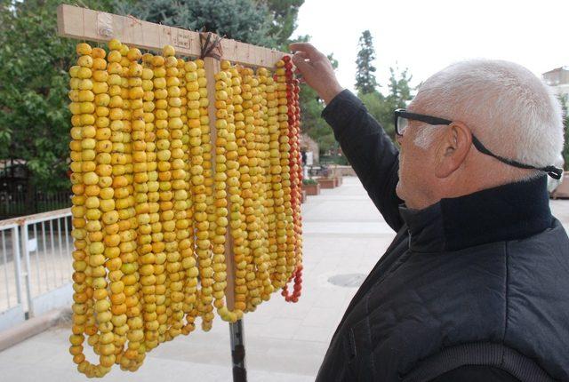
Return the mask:
M305 82L317 91L326 104L344 90L336 79L330 60L312 44L291 44L289 49L294 52L293 63Z

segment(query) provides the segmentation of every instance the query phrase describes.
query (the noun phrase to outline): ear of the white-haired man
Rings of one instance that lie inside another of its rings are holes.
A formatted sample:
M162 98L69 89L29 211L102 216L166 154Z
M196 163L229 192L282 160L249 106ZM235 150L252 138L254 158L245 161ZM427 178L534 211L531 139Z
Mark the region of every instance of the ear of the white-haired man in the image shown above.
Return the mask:
M472 133L466 124L453 122L438 139L437 178L447 178L464 162L472 146Z

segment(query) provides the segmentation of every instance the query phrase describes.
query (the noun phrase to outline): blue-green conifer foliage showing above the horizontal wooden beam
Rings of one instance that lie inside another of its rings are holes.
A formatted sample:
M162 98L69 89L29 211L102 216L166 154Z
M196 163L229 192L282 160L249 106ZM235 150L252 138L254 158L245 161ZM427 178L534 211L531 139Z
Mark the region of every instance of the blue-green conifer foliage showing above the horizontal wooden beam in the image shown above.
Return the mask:
M266 2L255 0L148 0L133 4L117 2L116 8L119 13L132 14L141 20L190 30L204 28L244 43L273 47L280 37L273 15L278 13L281 22L294 22L284 19L295 16L281 12L277 5L273 13Z

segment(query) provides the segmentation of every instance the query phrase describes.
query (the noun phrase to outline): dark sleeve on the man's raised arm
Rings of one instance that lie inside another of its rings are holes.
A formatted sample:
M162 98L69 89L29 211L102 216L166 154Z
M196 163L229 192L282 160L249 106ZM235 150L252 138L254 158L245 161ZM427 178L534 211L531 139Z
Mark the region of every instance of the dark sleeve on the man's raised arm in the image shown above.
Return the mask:
M338 94L322 112L357 177L389 227L403 226L396 195L399 152L380 123L352 92Z

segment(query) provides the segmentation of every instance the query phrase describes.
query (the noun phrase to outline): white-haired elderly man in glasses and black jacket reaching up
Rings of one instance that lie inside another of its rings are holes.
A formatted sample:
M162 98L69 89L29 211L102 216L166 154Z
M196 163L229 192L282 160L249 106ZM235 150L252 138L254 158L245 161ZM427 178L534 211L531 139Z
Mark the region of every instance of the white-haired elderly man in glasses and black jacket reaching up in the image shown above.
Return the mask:
M317 381L569 380L569 239L546 189L563 125L548 88L510 62L454 64L395 112L398 150L324 54L291 49L397 232Z

